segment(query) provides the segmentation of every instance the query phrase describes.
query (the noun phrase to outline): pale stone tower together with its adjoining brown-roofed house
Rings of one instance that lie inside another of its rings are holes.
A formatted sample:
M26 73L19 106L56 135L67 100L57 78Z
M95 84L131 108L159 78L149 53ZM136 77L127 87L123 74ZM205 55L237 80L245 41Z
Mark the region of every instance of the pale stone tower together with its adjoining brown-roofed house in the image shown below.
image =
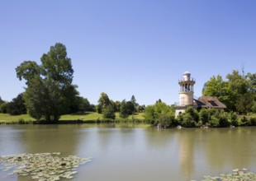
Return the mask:
M196 80L191 77L190 72L184 72L183 78L178 80L178 84L180 86L179 103L175 105L175 116L185 113L187 107L193 107L197 110L201 108L219 109L220 111L226 108L225 104L222 104L216 97L202 96L195 99L194 85Z

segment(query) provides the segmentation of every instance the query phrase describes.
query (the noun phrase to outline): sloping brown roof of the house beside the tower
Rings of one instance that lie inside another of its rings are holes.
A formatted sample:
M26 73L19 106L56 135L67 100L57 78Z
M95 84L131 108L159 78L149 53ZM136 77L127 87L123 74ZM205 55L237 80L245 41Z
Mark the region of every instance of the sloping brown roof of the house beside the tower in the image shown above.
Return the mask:
M216 97L211 96L199 97L198 100L194 101L194 104L199 108L226 109L225 104L221 103Z

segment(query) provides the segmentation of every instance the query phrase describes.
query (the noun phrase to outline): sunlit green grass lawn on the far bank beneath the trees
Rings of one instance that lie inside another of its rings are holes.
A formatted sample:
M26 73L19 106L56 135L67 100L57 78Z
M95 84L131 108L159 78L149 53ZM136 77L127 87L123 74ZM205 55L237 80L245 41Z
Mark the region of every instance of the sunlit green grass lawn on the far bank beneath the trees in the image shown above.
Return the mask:
M132 119L137 119L140 122L143 122L144 117L143 113L135 114L133 116L129 116L129 118L122 119L120 118L119 114L116 113L116 120L119 121L132 121ZM28 114L21 114L17 116L12 116L9 114L0 114L0 123L18 123L19 121L24 120L25 122L32 122L35 121L35 118L31 118ZM62 115L59 119L60 121L77 121L77 120L83 120L83 121L96 121L96 120L103 120L102 114L97 113L85 113L85 114L66 114Z

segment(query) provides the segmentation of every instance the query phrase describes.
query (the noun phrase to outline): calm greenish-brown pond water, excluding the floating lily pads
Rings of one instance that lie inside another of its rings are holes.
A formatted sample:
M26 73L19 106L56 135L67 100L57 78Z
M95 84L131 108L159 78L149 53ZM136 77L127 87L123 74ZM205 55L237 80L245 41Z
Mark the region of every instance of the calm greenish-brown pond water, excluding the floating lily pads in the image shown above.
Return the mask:
M61 152L92 157L72 181L188 181L256 171L256 128L157 130L126 124L1 125L0 155ZM1 166L0 166L1 167ZM0 180L30 181L26 176ZM63 179L64 180L64 179Z

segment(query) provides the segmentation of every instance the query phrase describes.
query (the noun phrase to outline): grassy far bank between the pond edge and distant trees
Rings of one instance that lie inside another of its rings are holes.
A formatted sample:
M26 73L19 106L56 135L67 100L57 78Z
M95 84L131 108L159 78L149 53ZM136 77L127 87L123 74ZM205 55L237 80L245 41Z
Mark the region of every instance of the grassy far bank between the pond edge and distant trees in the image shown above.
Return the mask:
M143 114L135 114L129 116L129 118L120 118L119 114L116 114L116 122L144 122ZM59 119L59 123L105 123L111 122L111 120L104 119L102 114L97 113L85 113L85 114L67 114L62 115ZM0 114L0 124L15 124L15 123L36 123L35 118L31 118L28 114L21 114L12 116L9 114Z

